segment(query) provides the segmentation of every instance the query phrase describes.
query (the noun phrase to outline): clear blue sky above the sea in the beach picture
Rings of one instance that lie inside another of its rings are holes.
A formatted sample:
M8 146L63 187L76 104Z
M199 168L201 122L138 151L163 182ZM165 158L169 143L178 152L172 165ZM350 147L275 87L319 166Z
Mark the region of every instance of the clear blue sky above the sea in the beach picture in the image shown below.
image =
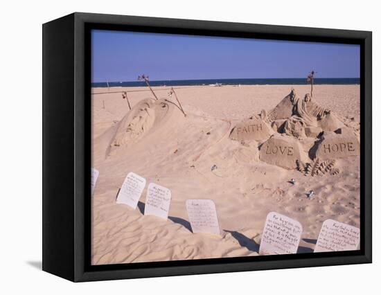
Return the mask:
M92 82L359 78L360 46L93 30Z

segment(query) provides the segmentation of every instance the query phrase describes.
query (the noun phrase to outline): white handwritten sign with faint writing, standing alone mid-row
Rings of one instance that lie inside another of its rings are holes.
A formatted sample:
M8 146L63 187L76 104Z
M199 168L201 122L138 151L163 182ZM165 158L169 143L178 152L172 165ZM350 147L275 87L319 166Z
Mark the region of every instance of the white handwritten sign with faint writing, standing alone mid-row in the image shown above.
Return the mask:
M188 199L186 211L192 226L193 233L213 233L220 235L217 211L211 199Z

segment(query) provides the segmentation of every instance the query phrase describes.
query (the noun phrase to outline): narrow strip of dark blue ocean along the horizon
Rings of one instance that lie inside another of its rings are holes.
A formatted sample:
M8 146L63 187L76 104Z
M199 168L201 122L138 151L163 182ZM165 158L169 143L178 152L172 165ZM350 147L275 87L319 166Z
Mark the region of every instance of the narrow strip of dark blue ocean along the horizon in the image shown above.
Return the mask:
M157 80L150 81L151 86L196 86L209 84L222 85L303 85L310 84L305 78L272 79L209 79L209 80ZM360 78L314 78L314 84L351 85L360 84ZM141 87L144 81L108 82L109 87ZM91 87L107 87L107 82L94 82Z

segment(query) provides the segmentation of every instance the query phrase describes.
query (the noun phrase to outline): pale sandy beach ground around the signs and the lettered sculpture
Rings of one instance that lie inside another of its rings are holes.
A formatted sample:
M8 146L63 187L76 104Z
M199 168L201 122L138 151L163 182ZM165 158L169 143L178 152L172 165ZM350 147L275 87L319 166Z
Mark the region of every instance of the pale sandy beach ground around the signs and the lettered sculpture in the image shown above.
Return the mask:
M298 253L313 251L327 219L359 227L360 157L335 159L335 175L305 176L261 161L259 147L265 140L231 138L238 123L270 111L292 88L300 98L310 92L307 84L175 87L184 116L172 104L173 96L168 97L170 87L153 87L157 107L134 118L128 117L121 91L127 91L136 110L153 100L148 87L91 89L92 167L99 171L91 206L91 263L256 256L271 211L303 226ZM318 84L313 91L312 100L336 114L358 138L360 86ZM127 136L123 126L131 120L137 120L136 129ZM306 155L317 141L308 136L295 140ZM136 210L116 203L129 172L170 189L168 220L143 215L147 187ZM306 197L310 190L312 198ZM192 233L187 199L215 202L222 235Z

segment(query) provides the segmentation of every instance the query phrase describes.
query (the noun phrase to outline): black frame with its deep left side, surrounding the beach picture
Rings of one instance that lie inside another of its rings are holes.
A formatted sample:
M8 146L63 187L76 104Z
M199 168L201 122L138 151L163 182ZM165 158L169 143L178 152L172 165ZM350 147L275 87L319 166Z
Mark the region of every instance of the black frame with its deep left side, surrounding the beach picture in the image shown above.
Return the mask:
M42 269L75 282L369 263L372 34L368 31L73 13L43 25ZM90 30L360 44L360 250L90 265Z

